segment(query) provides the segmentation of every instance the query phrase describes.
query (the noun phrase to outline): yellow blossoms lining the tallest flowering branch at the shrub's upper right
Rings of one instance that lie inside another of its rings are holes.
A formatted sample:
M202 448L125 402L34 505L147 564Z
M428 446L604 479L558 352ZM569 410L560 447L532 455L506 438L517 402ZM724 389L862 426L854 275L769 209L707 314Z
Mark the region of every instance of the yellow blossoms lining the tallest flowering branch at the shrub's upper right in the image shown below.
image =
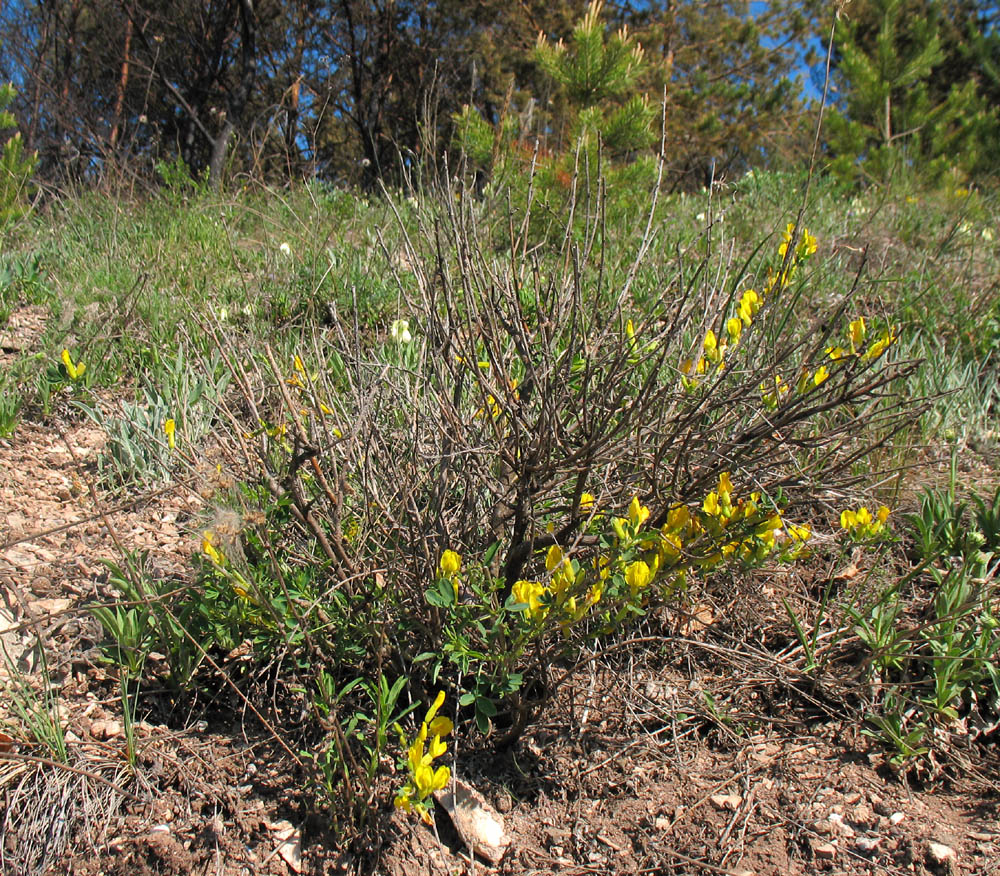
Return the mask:
M713 329L709 329L705 332L701 343L701 354L697 358L688 358L681 363L681 385L685 391L693 392L698 387L701 375L708 373L710 369L714 368L716 372L725 370L727 354L731 354L737 348L744 329L750 327L765 300L775 294L775 290L780 291L788 286L797 266L816 252L816 238L808 229L803 229L794 251L788 255L794 232L795 225L789 222L782 243L778 247L778 255L782 259L781 270L771 271L759 292L756 289L747 289L737 302L735 314L726 320L725 330L717 335ZM814 385L818 386L827 376L828 374L824 373Z

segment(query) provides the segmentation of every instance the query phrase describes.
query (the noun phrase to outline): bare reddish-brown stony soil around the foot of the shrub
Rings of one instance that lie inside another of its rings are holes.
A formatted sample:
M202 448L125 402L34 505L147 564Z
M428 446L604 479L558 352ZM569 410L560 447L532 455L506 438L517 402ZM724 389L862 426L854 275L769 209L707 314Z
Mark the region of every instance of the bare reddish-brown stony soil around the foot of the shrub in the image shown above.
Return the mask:
M114 597L102 560L123 548L184 586L207 503L196 485L103 496L103 436L56 410L0 440L0 679L21 691L0 701L4 874L1000 872L995 743L907 783L856 715L775 671L781 610L765 579L579 667L511 748L459 738L456 773L505 820L495 867L470 859L443 811L436 828L396 812L388 778L359 802L368 845L346 843L306 781L294 704L254 715L267 681L241 673L238 653L214 697L146 692L156 705L136 716L130 765L87 607ZM16 703L48 693L65 762L13 729Z

